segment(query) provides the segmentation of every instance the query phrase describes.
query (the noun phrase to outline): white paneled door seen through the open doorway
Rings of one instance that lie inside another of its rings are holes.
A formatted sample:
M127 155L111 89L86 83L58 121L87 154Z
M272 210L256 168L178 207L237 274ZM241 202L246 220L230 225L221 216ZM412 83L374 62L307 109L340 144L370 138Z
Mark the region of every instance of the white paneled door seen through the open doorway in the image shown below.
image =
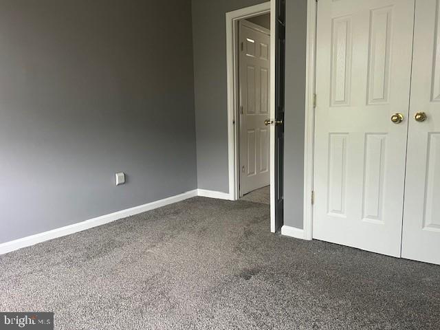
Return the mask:
M240 193L270 184L270 35L248 21L239 23Z

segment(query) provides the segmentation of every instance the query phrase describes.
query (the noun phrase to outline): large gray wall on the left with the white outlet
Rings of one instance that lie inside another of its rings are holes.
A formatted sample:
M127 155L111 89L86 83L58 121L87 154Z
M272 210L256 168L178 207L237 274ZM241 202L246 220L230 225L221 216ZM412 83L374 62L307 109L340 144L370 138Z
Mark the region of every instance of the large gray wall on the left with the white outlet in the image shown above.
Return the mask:
M0 0L0 31L0 243L196 188L190 0Z

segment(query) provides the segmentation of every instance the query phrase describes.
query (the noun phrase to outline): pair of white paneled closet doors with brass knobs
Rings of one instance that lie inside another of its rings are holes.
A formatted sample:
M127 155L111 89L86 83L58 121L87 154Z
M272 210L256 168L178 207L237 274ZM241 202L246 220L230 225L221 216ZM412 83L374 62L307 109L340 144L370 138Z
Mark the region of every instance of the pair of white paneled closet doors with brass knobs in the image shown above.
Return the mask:
M439 1L318 1L314 239L440 264Z

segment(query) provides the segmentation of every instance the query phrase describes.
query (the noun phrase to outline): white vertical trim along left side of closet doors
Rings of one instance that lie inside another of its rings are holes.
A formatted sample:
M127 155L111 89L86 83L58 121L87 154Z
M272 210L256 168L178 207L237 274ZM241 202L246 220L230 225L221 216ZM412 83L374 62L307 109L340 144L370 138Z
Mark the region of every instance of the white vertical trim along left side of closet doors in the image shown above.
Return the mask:
M318 2L307 0L307 62L305 95L304 135L304 236L313 237L313 205L311 192L314 190L314 144L315 144L315 77L316 77L316 12Z

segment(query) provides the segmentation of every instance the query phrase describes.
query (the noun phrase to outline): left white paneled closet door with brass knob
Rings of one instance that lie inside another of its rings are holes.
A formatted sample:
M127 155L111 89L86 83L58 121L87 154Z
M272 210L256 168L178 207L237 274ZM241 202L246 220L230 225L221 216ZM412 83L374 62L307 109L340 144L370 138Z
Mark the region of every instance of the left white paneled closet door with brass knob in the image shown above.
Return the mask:
M318 1L314 239L400 256L414 6Z

